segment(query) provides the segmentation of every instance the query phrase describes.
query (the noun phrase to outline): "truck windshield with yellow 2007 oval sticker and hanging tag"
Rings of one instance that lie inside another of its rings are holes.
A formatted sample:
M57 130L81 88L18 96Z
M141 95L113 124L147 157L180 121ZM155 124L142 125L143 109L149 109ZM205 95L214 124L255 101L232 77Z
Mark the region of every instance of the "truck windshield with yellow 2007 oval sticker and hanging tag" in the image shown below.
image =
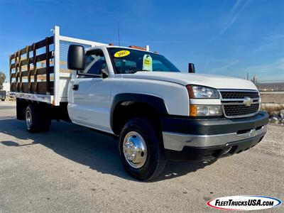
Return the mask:
M116 74L131 74L138 71L180 72L163 55L127 48L109 48L109 53Z

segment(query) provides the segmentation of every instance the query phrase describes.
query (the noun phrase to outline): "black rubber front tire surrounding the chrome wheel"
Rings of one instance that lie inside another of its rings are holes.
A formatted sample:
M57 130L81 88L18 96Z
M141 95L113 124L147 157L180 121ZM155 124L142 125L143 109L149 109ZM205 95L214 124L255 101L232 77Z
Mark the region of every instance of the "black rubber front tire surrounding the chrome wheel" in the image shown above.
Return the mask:
M124 138L128 133L137 132L143 137L147 146L146 162L141 168L133 168L124 155ZM153 180L163 172L166 164L163 139L157 126L150 119L134 118L128 121L119 136L119 153L121 163L126 171L138 180Z

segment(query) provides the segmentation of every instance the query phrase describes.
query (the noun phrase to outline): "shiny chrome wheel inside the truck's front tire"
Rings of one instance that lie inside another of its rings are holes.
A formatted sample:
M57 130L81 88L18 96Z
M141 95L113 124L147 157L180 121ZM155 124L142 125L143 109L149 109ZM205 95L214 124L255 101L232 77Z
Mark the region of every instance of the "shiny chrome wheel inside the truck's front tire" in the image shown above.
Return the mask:
M124 157L133 168L141 168L147 160L147 146L141 134L130 131L124 137Z

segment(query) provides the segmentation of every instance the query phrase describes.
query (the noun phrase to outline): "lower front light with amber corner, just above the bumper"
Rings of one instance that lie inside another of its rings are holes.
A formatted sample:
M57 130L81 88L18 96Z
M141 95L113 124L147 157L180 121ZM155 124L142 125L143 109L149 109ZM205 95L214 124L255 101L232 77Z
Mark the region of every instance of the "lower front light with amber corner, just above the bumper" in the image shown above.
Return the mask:
M220 105L190 105L190 116L222 116Z

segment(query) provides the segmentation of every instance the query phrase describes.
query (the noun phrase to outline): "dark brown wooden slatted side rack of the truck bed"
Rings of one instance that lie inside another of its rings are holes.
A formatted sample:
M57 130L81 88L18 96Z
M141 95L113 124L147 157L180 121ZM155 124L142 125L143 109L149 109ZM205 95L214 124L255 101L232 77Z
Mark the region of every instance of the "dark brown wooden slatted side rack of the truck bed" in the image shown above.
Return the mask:
M50 81L50 74L54 73L54 66L50 66L50 60L54 58L53 51L50 51L50 45L54 43L53 38L47 37L10 55L11 92L53 95L54 81ZM40 48L45 48L45 53L39 54ZM37 66L39 62L40 67ZM43 75L45 76L42 77Z

